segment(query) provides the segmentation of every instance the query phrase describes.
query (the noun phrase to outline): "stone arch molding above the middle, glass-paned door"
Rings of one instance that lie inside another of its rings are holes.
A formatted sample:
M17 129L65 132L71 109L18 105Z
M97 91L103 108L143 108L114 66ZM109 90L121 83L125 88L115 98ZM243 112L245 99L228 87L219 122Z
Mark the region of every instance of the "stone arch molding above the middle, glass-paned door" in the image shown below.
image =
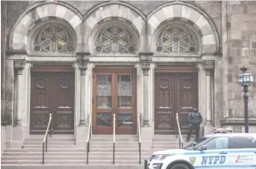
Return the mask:
M85 49L90 50L90 37L95 27L98 27L101 21L108 19L126 20L132 23L132 26L139 34L140 43L143 44L146 38L145 25L146 17L137 7L127 2L103 2L93 7L84 15L84 24L86 32L84 34Z

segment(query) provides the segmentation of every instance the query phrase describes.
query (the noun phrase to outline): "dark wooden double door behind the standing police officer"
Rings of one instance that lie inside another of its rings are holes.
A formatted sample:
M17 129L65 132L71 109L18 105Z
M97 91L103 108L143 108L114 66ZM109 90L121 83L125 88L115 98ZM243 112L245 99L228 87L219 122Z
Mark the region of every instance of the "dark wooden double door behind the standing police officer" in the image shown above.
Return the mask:
M155 74L155 134L188 133L188 114L198 108L198 72Z

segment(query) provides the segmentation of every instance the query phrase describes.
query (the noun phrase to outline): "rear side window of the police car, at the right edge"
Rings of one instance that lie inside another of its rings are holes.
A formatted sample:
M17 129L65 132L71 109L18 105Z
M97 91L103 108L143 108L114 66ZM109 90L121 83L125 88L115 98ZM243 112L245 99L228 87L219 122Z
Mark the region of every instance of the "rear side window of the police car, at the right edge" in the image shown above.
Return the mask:
M253 137L233 137L233 148L254 148L255 146Z

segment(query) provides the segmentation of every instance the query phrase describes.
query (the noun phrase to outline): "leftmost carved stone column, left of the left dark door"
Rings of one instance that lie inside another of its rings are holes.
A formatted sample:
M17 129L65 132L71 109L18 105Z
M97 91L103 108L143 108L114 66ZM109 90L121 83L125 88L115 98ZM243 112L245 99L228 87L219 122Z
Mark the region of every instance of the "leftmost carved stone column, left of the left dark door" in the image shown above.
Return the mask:
M22 80L22 75L23 75L23 69L25 67L26 60L20 59L20 60L14 60L14 69L18 71L17 74L17 117L16 117L16 124L17 126L21 127L23 122L22 122L22 115L23 115L23 95L22 95L22 89L23 89L23 80Z

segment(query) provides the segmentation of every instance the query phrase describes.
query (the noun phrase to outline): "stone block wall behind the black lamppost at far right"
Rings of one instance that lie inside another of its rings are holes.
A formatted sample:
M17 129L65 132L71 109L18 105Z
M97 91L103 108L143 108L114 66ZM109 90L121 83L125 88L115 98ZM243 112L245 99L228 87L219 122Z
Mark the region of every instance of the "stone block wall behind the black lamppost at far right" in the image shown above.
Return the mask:
M243 119L240 67L256 75L256 2L228 2L228 117ZM254 41L254 42L253 42ZM256 83L249 87L248 113L256 117Z

